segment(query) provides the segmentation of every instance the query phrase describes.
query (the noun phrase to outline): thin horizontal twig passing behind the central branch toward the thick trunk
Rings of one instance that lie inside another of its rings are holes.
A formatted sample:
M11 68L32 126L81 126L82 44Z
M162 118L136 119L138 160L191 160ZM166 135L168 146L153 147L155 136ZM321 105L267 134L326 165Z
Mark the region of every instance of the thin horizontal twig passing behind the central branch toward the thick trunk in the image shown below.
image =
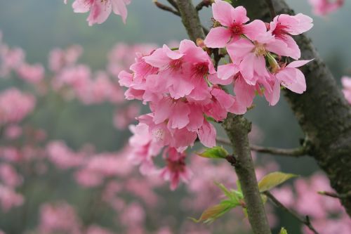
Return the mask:
M230 141L225 138L217 138L216 141L218 143L223 143L225 145L232 145ZM306 150L304 147L299 147L296 149L280 149L280 148L270 148L270 147L263 147L259 145L250 145L251 150L256 152L263 152L270 155L284 155L284 156L291 156L291 157L301 157L306 155Z

